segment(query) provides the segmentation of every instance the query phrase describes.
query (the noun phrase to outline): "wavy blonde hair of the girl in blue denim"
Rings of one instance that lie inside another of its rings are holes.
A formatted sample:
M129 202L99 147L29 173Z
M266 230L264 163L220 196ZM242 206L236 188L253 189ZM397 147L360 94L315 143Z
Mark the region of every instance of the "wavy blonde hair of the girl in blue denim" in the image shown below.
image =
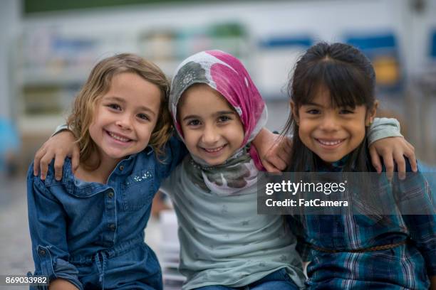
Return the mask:
M88 129L93 122L96 104L110 89L112 78L120 73L135 73L147 82L157 85L160 89L159 117L149 142L158 159L163 155L162 147L172 134L172 119L168 110L170 82L162 70L154 63L130 53L105 58L91 70L88 80L74 100L71 114L67 118L68 128L78 139L76 142L81 152L81 163L91 169L100 166L100 160L96 166L87 163L91 154L97 151L97 145L90 138Z

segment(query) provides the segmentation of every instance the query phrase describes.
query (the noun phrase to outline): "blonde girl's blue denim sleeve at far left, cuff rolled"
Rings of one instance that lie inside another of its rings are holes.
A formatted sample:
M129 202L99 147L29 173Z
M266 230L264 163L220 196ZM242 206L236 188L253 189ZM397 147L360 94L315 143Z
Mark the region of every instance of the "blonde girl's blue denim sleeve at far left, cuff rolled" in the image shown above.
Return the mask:
M49 281L65 279L83 289L78 279L78 269L68 262L63 206L46 188L44 181L33 176L33 163L27 176L27 204L35 275L48 276Z

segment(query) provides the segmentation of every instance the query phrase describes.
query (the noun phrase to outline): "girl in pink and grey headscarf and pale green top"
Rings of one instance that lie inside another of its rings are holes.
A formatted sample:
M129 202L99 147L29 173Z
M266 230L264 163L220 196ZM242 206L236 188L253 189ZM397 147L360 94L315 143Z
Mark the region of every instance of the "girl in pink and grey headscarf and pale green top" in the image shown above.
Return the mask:
M161 187L179 222L182 289L303 287L294 235L280 215L257 215L261 163L251 141L267 112L244 65L218 50L187 58L170 112L190 151Z

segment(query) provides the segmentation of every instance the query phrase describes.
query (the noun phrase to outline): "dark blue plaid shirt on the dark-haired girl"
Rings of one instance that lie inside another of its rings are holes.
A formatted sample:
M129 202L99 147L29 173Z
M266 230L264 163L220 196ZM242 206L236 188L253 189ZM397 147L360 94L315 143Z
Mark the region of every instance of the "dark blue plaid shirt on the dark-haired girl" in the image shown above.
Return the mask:
M333 171L341 171L340 164ZM408 166L410 171L410 165ZM326 171L321 168L319 171ZM425 178L415 178L406 195L420 196L422 215L296 215L288 216L308 264L309 289L428 289L436 275L436 213ZM396 181L398 190L400 181ZM386 187L388 188L388 187ZM403 191L404 193L404 191ZM415 198L416 200L416 198ZM388 218L389 223L382 220ZM349 252L408 240L373 252ZM410 240L410 241L409 241ZM324 252L314 248L334 249ZM348 252L347 252L348 251Z

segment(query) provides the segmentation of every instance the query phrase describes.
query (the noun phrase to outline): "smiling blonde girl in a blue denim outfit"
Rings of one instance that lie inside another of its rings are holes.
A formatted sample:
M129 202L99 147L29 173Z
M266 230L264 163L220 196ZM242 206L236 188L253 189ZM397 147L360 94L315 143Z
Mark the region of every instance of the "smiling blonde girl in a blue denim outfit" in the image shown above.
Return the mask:
M75 173L63 163L27 176L34 275L40 289L162 289L160 265L144 243L151 201L183 150L170 140L169 83L137 55L101 60L73 104ZM182 155L181 155L182 154Z

